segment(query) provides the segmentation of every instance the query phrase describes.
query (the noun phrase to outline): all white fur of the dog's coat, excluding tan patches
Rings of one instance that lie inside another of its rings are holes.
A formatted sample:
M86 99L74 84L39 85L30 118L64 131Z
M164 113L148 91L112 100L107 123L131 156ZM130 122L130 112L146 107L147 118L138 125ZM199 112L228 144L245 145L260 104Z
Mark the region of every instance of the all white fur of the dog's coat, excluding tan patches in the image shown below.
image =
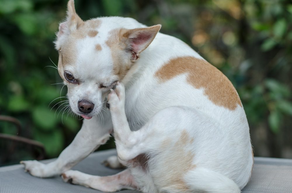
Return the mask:
M204 94L203 88L196 89L187 83L186 74L164 83L159 83L154 76L169 59L202 57L181 40L158 33L141 52L133 73L128 73L121 80L124 86L118 85L117 94L121 96L117 96L114 91L110 94L111 118L109 111L101 110L105 108L103 102L108 92L98 88L99 83L117 78L109 76L113 60L105 42L113 29L146 26L132 18L101 17L98 20L101 20L98 35L76 40L77 62L64 69L82 80L78 87L67 83L72 110L79 114L78 100L89 99L97 106L91 113L93 118L84 120L74 141L56 161L47 165L24 161L25 169L39 177L61 174L105 143L114 127L115 136L119 135L116 144L123 164L129 165L128 161L139 154L146 153L149 156L147 172L139 167L130 168L138 187L143 192L178 192L171 184L167 184L167 179L174 173L165 160L176 152L171 148L162 151L161 143L170 139L175 148L174 144L185 129L194 138L182 152L194 155L191 161L196 167L183 177L190 192L240 192L239 189L249 180L253 165L249 127L243 107L238 105L235 110L229 110L215 105ZM64 34L56 41L57 49L66 41ZM94 51L96 43L102 47L100 52ZM66 180L70 175L71 178L74 176L77 184L86 184L82 182L88 178L71 171L65 174ZM92 183L87 186L105 190ZM133 188L133 185L126 187Z

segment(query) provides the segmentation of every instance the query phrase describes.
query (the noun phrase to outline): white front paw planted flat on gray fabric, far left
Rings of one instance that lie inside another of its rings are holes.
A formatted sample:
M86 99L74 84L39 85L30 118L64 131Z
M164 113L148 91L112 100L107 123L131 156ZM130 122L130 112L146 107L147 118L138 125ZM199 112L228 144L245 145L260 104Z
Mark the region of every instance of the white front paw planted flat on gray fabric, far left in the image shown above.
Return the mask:
M38 162L36 160L31 160L31 161L21 161L20 164L23 164L25 171L29 172L33 176L37 176L41 178L50 177L50 176L47 176L46 173L44 172L46 165L41 162Z

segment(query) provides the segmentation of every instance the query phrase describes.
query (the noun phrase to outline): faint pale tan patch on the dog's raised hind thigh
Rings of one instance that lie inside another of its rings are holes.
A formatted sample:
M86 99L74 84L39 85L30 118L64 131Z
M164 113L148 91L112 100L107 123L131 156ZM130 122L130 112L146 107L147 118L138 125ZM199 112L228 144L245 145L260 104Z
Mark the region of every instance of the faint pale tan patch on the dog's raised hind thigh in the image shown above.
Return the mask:
M167 139L162 142L161 150L164 148L169 149L173 152L170 155L167 155L165 159L165 165L169 168L169 173L171 173L170 178L162 179L166 182L165 186L179 190L180 192L190 192L189 187L184 181L184 175L188 171L194 169L196 165L193 164L194 153L186 150L187 144L191 144L194 141L194 138L190 137L187 130L181 132L180 138L178 141L173 143L171 139Z

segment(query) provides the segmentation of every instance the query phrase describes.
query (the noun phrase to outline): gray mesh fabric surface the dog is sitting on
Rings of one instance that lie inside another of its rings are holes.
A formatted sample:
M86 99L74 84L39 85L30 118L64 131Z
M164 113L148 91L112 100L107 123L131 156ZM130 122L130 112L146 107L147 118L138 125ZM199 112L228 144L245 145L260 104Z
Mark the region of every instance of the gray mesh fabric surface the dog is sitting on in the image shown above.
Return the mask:
M121 170L109 169L101 164L107 157L116 155L116 150L95 152L89 155L73 169L92 175L107 176L118 173ZM52 159L51 159L52 160ZM50 162L44 160L43 162ZM0 167L0 192L1 193L58 193L58 192L94 192L93 190L79 185L64 183L58 177L36 178L25 173L23 166L13 165ZM121 193L138 193L135 190L122 190ZM243 193L292 193L292 160L277 158L256 157L253 166L251 181L242 190Z

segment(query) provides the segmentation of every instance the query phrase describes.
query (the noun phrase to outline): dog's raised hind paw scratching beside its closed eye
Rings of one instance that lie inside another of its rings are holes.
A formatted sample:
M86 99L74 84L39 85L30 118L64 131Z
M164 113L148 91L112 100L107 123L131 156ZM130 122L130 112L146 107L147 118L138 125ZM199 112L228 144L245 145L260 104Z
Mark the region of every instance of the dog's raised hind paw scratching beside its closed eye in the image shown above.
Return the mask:
M108 108L111 111L123 109L125 106L125 87L121 83L117 83L115 90L111 89L111 92L107 96Z

